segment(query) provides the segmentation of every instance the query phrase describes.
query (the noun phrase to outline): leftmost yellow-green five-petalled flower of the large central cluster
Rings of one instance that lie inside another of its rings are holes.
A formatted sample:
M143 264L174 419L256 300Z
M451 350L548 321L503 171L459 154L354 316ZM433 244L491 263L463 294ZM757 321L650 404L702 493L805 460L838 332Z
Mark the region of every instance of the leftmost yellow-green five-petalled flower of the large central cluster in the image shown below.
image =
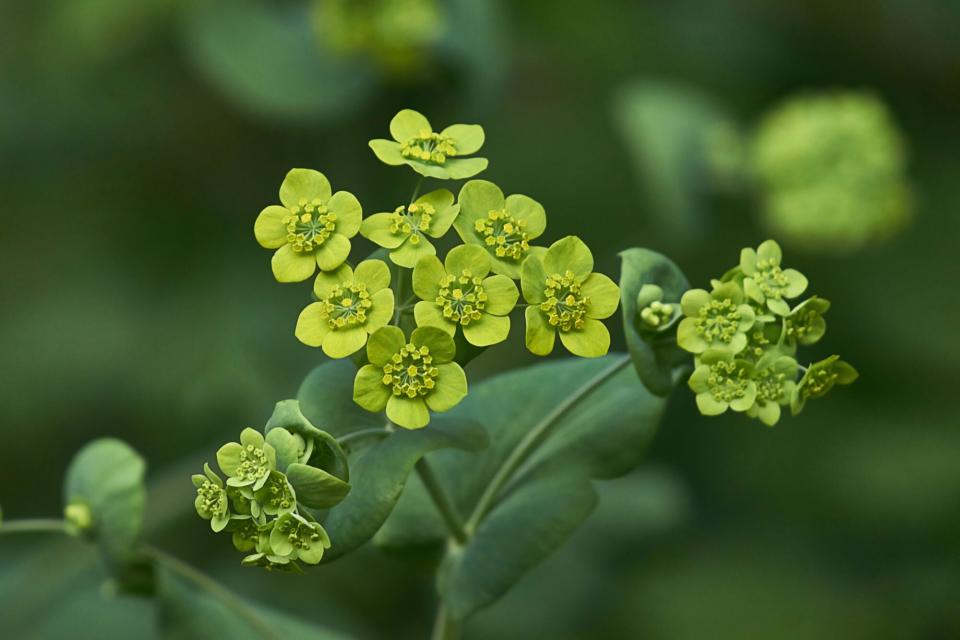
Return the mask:
M319 171L291 169L280 185L280 202L261 211L253 227L262 247L277 250L271 266L278 282L301 282L318 266L332 271L343 264L362 218L352 193L332 193Z

